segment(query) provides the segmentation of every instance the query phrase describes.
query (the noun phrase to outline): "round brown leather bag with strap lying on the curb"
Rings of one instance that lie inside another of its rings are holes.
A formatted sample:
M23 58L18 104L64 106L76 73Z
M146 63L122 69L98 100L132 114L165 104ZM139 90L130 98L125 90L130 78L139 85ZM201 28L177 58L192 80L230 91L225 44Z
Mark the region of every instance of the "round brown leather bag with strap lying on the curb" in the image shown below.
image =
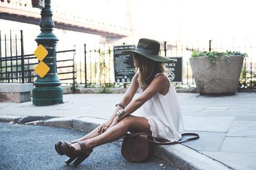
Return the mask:
M183 133L181 136L191 135L196 136L194 138L188 138L183 141L174 141L174 142L166 142L168 140L163 138L155 138L150 136L147 133L126 133L124 137L124 141L122 142L121 147L121 154L122 156L130 162L143 162L149 157L152 156L154 153L154 146L155 144L162 144L162 145L169 145L169 144L176 144L176 143L183 143L187 141L192 141L194 139L198 139L199 135L197 133ZM161 141L161 142L157 142Z

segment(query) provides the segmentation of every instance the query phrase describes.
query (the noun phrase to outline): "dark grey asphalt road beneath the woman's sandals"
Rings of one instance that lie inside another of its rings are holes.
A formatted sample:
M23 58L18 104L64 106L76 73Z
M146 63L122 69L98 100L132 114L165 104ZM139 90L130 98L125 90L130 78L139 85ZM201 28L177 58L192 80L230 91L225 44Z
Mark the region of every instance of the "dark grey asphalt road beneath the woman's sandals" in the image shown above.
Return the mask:
M117 141L94 148L77 168L66 166L67 157L56 153L55 142L72 141L85 134L72 129L0 122L0 169L178 169L156 157L144 163L126 161Z

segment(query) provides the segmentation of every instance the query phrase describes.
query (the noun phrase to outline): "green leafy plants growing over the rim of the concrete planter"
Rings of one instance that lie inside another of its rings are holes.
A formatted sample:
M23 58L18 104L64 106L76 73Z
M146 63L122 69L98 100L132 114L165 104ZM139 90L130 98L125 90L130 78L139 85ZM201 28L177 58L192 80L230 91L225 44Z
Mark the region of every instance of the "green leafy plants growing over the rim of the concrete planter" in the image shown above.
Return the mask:
M216 51L210 51L210 52L198 52L193 51L191 54L191 57L209 57L210 61L213 63L216 62L216 57L226 57L229 61L230 56L240 56L240 57L248 57L247 53L241 53L239 51L226 51L226 52L216 52Z

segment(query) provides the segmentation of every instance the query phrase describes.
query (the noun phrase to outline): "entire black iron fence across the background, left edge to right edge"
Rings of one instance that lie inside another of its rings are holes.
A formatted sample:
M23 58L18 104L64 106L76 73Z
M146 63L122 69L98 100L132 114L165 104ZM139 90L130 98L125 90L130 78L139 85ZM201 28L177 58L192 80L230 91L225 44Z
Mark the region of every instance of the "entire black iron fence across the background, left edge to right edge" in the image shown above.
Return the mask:
M34 68L38 59L24 54L22 31L0 31L0 82L35 82ZM256 39L213 39L205 41L165 41L160 54L166 57L183 57L183 82L176 87L195 87L189 58L193 51L240 51L248 53L244 59L240 88L256 86ZM57 52L57 73L62 86L124 87L114 82L113 47L120 44L83 44L71 50Z

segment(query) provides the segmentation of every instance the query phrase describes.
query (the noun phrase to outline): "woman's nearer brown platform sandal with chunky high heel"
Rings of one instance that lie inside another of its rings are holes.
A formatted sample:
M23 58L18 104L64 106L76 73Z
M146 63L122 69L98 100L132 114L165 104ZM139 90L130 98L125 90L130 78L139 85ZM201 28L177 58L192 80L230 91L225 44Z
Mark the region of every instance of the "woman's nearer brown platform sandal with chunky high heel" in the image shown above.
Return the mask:
M66 164L70 164L73 160L73 165L77 167L81 162L83 162L93 151L93 149L87 149L84 142L75 142L80 144L81 151L76 152L75 148L70 146L66 141L62 142L61 149L66 156L70 157L68 161L65 161Z

